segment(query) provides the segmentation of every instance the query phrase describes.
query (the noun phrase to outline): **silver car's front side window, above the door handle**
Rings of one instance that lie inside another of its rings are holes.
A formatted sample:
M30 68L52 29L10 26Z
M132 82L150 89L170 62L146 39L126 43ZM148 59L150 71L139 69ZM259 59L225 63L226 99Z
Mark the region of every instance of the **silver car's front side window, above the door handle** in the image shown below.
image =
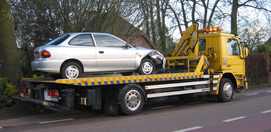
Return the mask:
M93 34L97 47L126 48L125 43L119 39L103 34Z

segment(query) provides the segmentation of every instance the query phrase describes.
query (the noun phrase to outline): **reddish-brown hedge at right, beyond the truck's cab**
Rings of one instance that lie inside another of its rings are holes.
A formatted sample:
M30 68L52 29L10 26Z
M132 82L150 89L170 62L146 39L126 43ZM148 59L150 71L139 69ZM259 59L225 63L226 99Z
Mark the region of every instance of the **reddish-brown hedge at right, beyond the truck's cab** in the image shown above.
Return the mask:
M249 86L268 83L270 57L263 53L250 53L245 59L246 76Z

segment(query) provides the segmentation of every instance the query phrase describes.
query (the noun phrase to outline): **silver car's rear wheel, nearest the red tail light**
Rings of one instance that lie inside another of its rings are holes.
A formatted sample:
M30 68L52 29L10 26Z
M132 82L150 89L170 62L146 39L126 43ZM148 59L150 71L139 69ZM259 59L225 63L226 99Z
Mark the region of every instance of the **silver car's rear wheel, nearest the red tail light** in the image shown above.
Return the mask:
M63 79L81 78L82 68L75 62L68 62L63 65L60 74Z

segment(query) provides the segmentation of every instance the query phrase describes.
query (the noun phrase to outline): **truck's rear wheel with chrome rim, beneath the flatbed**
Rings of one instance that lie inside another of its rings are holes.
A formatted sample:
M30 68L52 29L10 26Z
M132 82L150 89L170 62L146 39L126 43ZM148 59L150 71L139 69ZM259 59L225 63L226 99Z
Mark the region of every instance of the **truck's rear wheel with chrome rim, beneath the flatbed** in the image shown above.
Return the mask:
M131 116L138 114L144 105L144 94L139 88L129 87L121 95L120 112Z

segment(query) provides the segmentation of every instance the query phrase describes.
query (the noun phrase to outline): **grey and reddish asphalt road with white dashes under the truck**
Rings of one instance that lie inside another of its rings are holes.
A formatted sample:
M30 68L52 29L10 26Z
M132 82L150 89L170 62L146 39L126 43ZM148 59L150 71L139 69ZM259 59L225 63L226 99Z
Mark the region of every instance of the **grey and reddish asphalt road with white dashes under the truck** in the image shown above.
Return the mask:
M206 98L146 102L142 112L135 116L73 109L41 113L0 120L2 131L269 132L271 88L234 93L234 98L227 103Z

